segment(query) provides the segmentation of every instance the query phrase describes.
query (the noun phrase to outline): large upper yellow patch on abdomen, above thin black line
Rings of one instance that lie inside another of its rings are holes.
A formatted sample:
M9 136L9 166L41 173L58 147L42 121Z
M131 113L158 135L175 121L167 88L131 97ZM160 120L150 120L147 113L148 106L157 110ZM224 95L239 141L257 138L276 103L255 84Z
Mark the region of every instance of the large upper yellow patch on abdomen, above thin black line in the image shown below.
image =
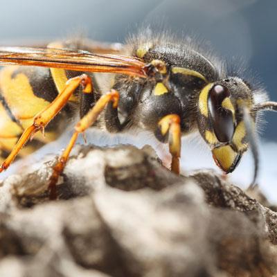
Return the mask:
M35 96L28 77L19 73L12 78L17 66L7 66L0 74L1 94L5 98L12 114L19 120L33 118L35 114L45 109L49 102Z

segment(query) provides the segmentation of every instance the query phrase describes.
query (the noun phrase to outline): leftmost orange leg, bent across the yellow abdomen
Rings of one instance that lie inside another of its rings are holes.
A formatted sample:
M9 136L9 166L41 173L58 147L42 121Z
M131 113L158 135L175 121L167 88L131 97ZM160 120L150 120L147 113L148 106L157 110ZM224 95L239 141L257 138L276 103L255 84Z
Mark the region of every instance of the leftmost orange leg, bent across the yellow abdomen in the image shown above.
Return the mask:
M48 105L48 107L46 107L46 109L39 112L39 114L34 117L33 125L30 125L24 130L23 134L21 134L15 148L12 149L12 152L10 152L7 159L3 161L0 167L0 172L6 170L10 166L10 163L12 163L18 152L21 148L23 148L24 144L28 141L28 139L30 139L30 137L32 137L39 130L44 132L46 125L57 115L62 107L66 105L66 102L80 84L82 84L84 91L87 93L89 92L89 89L91 89L91 79L85 74L69 79L66 82L64 90L55 98L55 100L53 100L53 102L51 102L50 105Z

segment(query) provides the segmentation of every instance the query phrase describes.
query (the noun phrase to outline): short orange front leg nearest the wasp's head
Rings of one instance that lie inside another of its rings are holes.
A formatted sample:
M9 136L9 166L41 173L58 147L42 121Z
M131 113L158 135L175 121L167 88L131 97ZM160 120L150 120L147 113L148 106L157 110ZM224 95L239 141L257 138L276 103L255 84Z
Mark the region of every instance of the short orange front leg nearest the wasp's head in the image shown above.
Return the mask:
M180 118L177 114L169 114L164 116L158 123L161 129L161 134L166 136L169 135L169 152L171 154L171 171L179 174L180 165L179 158L181 153L181 127Z

